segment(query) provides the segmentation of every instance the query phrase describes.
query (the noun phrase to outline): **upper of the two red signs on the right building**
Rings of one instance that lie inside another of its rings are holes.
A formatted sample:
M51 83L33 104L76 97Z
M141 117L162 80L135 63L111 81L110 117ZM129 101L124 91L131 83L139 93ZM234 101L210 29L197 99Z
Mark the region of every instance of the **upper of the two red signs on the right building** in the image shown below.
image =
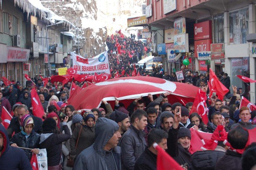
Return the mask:
M194 24L194 40L212 38L212 21Z

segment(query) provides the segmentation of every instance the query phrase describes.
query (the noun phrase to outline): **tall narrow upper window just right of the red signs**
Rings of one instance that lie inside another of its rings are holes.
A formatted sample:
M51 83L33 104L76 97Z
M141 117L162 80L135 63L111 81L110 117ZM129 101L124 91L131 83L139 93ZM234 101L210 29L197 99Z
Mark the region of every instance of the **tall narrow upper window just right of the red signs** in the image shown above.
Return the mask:
M224 43L224 14L214 16L214 43Z

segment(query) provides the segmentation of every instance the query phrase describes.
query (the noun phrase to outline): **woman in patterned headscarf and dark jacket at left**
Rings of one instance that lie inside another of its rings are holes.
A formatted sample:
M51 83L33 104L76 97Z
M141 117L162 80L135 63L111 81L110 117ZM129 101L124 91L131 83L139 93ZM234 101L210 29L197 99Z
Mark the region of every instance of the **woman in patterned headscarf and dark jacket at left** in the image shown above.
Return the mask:
M24 115L21 118L21 132L16 133L10 139L10 145L13 147L25 147L30 148L24 149L25 154L28 156L28 159L31 160L32 153L38 154L40 142L40 134L37 134L33 131L34 121L30 115Z

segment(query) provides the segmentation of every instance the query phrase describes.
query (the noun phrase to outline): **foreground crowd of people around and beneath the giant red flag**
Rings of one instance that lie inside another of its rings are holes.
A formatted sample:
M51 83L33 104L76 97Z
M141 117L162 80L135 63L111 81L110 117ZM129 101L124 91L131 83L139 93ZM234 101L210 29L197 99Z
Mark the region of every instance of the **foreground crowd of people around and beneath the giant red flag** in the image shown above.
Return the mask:
M223 75L219 76L220 81L227 79ZM199 83L208 93L201 84L208 75L190 76L188 72L186 83ZM171 104L168 92L160 96L148 94L126 106L115 100L112 108L102 100L99 108L76 110L67 102L71 82L49 82L44 87L39 77L35 79L35 85L26 82L24 89L19 82L10 86L1 82L0 111L4 106L13 112L13 118L7 130L0 125L0 170L32 169L29 161L40 149L47 151L48 170L156 170L154 143L185 170L250 170L256 164L256 145L248 144L248 130L256 127L256 110L239 109L241 96L248 92L237 87L232 86L233 94L227 94L224 101L209 96L209 120L204 124L198 113L190 114L193 102ZM42 118L34 116L31 108L33 86L37 87L44 108ZM191 128L215 134L212 136L216 146L191 154ZM70 164L71 160L74 164Z

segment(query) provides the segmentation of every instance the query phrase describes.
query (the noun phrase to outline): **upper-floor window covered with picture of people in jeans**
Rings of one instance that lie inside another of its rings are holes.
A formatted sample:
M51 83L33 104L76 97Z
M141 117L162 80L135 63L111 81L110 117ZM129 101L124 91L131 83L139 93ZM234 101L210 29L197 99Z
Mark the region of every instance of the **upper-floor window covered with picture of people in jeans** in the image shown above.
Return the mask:
M245 44L248 34L249 8L229 13L230 44Z

